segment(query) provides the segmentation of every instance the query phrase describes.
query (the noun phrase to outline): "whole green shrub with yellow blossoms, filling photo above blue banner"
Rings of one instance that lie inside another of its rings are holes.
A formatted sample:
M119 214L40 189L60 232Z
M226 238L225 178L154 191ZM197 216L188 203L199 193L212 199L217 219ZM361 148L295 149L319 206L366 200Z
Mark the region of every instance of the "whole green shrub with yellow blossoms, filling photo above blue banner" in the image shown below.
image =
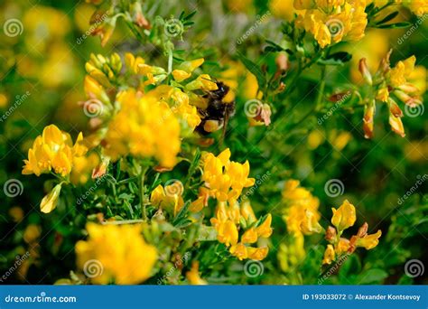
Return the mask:
M394 43L426 1L25 5L1 6L2 280L426 283L426 40Z

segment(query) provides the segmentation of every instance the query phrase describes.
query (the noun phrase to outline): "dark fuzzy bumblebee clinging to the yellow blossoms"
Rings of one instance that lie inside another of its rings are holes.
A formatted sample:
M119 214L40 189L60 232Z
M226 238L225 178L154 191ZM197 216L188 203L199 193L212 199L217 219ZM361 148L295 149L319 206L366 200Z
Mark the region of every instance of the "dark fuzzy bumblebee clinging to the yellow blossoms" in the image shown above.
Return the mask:
M235 114L235 101L223 101L228 95L228 86L221 81L217 81L216 84L218 89L209 91L203 96L208 100L207 108L198 108L202 121L196 127L196 132L202 136L207 136L220 128L223 128L223 136L225 136L228 119Z

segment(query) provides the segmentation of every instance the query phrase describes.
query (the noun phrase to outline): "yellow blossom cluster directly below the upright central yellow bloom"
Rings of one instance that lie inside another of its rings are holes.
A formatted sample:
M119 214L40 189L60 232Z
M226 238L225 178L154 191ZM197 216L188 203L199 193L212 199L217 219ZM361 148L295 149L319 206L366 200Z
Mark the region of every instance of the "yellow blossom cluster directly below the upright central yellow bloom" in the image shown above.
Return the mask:
M251 258L262 260L267 256L267 247L254 248L247 245L254 244L259 238L267 239L272 234L272 216L268 214L263 222L258 222L256 226L256 216L248 201L244 201L239 206L237 202L228 204L226 201L219 201L215 211L215 217L211 218L214 229L217 230L219 242L229 248L229 252L242 260ZM247 229L239 239L239 228Z

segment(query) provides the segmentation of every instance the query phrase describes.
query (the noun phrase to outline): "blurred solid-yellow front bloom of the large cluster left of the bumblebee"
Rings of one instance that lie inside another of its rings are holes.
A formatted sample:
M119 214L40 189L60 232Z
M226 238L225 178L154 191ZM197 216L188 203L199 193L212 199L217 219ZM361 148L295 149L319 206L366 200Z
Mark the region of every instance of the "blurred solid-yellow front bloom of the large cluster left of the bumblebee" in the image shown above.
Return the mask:
M176 163L180 151L180 125L171 108L154 96L140 97L134 89L117 95L121 109L108 125L105 154L154 157L165 167Z

